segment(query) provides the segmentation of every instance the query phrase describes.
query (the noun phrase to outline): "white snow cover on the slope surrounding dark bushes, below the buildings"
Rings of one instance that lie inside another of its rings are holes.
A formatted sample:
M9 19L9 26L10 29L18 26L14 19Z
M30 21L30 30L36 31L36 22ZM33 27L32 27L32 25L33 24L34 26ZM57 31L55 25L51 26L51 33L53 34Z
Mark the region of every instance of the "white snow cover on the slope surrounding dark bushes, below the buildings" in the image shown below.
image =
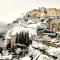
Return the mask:
M27 48L28 54L25 56L13 55L13 52L8 52L8 50L3 49L3 55L0 55L0 59L12 59L12 60L60 60L60 41L56 38L50 38L48 36L43 36L38 38L37 29L46 28L46 21L41 22L40 18L18 18L11 24L6 25L4 28L6 30L5 40L1 39L1 46L6 47L8 40L11 35L19 34L22 31L29 32L29 38L32 36L32 44ZM3 42L3 43L2 43ZM4 44L4 45L3 45ZM24 49L17 48L15 52L19 54ZM21 54L20 54L21 55Z

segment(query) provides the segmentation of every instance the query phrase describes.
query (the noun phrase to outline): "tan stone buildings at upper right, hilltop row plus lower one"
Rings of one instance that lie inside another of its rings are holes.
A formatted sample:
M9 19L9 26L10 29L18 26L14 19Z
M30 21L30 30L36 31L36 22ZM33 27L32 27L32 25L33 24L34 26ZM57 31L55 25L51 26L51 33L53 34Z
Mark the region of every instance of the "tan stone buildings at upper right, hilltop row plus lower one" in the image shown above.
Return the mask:
M33 9L26 13L27 17L43 17L41 21L48 19L46 21L46 26L49 30L60 32L60 9L57 8L45 8L39 7L38 9Z

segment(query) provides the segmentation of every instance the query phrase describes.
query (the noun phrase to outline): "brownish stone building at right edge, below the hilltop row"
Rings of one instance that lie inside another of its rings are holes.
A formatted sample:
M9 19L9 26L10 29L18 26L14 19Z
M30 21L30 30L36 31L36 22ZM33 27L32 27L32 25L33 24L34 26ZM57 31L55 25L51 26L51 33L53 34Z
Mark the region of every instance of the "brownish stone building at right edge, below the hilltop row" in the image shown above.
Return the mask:
M48 20L47 24L51 31L60 32L60 19Z

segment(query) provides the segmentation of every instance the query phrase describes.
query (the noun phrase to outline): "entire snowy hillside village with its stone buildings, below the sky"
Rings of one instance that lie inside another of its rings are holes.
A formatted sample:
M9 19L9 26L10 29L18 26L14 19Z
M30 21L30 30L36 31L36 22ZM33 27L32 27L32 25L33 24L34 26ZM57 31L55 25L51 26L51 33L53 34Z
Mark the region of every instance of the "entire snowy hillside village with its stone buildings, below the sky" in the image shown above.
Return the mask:
M60 9L39 7L4 25L0 60L60 60Z

